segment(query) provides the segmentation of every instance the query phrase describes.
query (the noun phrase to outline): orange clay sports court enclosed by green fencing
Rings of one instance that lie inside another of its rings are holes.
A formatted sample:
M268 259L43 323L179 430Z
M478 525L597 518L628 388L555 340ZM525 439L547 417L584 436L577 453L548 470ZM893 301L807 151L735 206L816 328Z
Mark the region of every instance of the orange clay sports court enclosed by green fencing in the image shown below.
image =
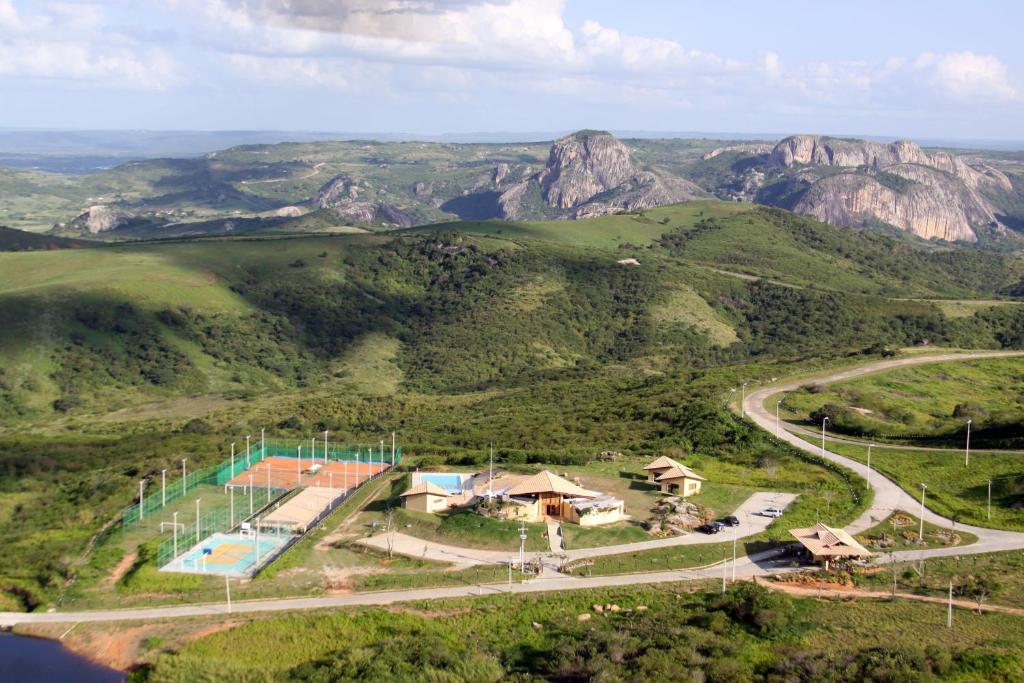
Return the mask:
M228 480L228 486L271 488L298 488L300 486L322 486L327 488L355 488L364 481L380 474L391 466L387 463L367 463L354 461L331 461L309 458L289 458L271 456L254 464L238 476ZM250 477L250 475L252 475Z

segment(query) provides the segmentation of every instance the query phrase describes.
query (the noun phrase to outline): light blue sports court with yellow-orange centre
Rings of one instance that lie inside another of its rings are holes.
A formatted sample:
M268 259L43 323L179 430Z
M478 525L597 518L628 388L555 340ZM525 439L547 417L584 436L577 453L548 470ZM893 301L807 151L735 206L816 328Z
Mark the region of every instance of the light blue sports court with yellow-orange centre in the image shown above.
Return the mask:
M160 570L244 579L276 557L294 538L291 533L260 535L257 547L256 539L251 536L214 533Z

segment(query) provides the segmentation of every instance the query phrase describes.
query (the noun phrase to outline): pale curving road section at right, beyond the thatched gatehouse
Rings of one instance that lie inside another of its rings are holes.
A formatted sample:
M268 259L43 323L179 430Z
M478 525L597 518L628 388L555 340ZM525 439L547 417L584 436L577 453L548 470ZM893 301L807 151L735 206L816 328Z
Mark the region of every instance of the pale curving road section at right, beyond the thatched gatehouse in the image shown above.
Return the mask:
M775 433L775 416L765 409L765 401L774 394L786 391L794 391L800 387L812 384L828 384L843 380L861 377L872 373L879 373L906 366L918 366L933 362L950 362L957 360L978 360L982 358L996 358L1006 356L1024 355L1020 351L981 351L973 353L944 353L937 355L920 355L907 358L897 358L893 360L882 360L860 368L844 370L821 377L804 378L799 381L773 384L769 387L757 389L746 395L743 401L743 412L751 421L770 434ZM878 522L888 517L894 510L903 510L914 515L921 515L921 501L903 490L894 481L886 478L874 470L869 470L865 465L855 460L846 458L830 451L822 452L820 444L813 444L804 440L798 434L782 430L778 438L800 449L806 453L816 456L823 456L838 465L842 465L867 480L874 492L874 501L871 507L860 517L847 525L846 530L851 533L864 531ZM927 506L927 497L926 497ZM925 521L939 526L952 526L952 521L927 509L924 514ZM926 557L937 557L943 555L965 555L972 553L987 553L999 550L1016 550L1024 548L1024 533L1017 531L1004 531L999 529L984 528L981 526L971 526L969 524L957 524L957 528L970 531L978 537L978 542L970 546L958 546L956 548L937 548L934 550L903 551L894 553L895 559L922 559Z

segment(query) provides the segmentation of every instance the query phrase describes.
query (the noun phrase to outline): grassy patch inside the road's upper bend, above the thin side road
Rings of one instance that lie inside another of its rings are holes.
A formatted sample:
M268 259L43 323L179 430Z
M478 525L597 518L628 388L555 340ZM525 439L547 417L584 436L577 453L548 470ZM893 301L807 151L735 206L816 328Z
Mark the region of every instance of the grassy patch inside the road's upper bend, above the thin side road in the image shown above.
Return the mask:
M961 447L972 419L972 443L1020 447L1013 426L1024 417L1024 357L900 368L805 388L784 396L780 415L808 424L825 404L849 409L834 420L844 433Z

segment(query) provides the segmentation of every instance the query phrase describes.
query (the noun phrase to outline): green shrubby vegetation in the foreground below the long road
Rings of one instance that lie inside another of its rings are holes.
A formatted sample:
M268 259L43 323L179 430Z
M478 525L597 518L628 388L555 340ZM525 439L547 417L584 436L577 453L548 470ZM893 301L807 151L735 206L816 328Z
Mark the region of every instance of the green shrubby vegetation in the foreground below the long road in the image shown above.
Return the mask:
M633 587L259 618L133 680L1013 680L1020 617L941 606ZM597 611L594 605L601 605ZM585 615L585 616L582 616ZM152 656L152 655L151 655Z

